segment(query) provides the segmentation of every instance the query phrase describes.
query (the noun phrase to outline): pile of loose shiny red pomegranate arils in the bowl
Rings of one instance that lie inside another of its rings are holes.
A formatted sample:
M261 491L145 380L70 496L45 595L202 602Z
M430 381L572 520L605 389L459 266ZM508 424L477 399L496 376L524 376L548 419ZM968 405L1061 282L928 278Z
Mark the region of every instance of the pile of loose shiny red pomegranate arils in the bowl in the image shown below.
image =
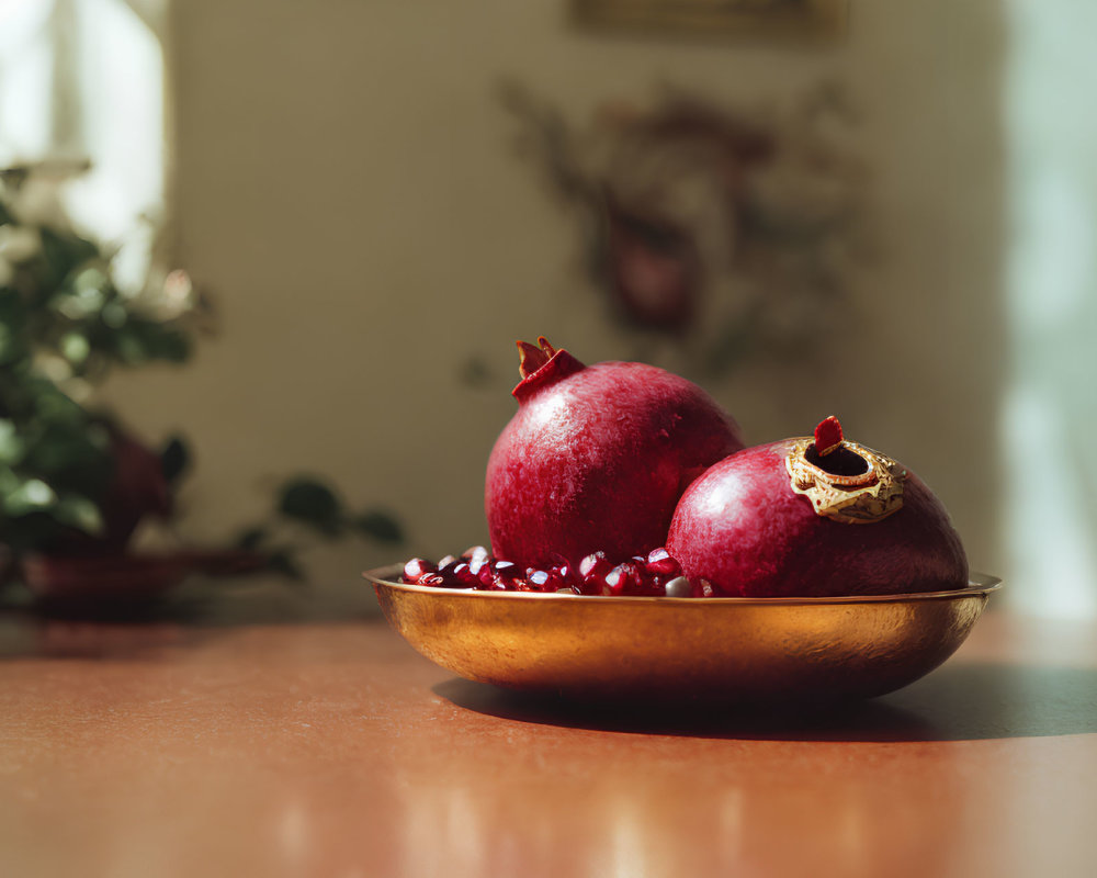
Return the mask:
M446 555L437 564L414 558L404 565L400 582L436 588L479 592L542 592L568 595L627 595L636 597L720 597L708 582L690 583L666 549L654 549L614 564L604 552L587 555L578 565L561 562L539 570L521 569L493 558L474 545L460 558Z

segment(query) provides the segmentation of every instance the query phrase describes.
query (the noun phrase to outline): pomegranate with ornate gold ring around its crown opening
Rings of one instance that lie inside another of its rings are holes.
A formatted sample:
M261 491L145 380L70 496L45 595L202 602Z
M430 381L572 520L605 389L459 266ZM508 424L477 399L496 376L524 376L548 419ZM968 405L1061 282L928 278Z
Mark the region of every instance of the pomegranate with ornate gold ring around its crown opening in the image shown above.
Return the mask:
M968 560L932 492L905 468L814 438L733 454L682 496L667 549L691 581L743 597L906 594L962 588Z

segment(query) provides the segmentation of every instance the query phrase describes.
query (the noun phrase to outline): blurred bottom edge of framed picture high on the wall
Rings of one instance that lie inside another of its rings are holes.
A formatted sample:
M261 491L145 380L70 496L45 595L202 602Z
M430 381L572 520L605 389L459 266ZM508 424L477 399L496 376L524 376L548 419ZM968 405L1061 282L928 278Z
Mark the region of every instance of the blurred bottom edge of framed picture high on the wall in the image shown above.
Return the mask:
M826 40L845 31L848 0L572 0L583 27L728 38Z

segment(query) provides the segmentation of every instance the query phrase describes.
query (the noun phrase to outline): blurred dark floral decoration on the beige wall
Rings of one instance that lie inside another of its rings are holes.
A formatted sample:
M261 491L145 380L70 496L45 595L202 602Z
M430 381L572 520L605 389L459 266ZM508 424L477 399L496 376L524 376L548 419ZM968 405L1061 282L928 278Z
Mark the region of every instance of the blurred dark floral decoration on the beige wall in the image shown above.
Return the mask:
M648 105L606 102L581 126L521 86L504 100L623 326L720 372L756 351L806 351L841 318L868 249L841 87L753 109L665 88Z

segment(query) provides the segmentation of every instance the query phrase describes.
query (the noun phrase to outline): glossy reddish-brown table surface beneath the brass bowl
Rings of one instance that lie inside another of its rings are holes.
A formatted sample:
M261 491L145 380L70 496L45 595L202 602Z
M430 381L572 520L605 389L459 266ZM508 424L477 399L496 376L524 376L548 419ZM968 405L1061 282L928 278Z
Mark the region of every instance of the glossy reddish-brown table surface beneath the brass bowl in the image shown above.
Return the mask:
M1097 875L1097 626L823 716L568 708L382 621L0 620L0 875Z

